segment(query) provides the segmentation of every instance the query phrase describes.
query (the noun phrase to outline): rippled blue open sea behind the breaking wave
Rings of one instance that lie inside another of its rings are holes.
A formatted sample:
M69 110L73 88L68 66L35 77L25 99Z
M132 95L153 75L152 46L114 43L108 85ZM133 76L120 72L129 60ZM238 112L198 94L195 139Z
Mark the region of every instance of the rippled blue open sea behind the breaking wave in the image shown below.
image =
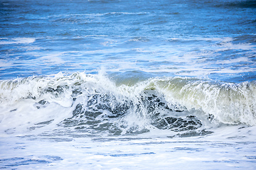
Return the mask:
M146 72L255 80L255 1L4 1L0 77Z

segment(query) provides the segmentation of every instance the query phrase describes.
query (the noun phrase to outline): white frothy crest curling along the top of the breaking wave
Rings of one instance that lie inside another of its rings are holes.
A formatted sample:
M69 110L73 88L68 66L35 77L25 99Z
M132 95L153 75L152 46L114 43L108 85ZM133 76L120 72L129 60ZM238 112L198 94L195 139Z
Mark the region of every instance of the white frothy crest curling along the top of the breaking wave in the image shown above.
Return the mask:
M154 78L139 83L136 81L135 84L132 83L134 85L129 81L120 81L117 82L119 84L117 86L104 74L90 75L82 72L70 76L56 74L55 77L48 78L30 77L14 81L1 81L1 105L5 109L9 106L17 109L14 107L18 103L23 103L24 100L32 103L46 100L68 108L73 106L73 89L83 91L82 103L86 102L88 99L85 98L94 94L94 91L98 91L102 94L112 94L116 98L112 102L117 100L122 103L129 98L133 105L136 105L141 102L138 100L139 95L147 89L153 89L156 93L164 95L170 108L175 106L176 108L185 107L188 111L193 111L193 109L203 111L202 115L213 116L220 123L256 125L255 82L218 84L181 77ZM116 104L110 103L110 106L114 107ZM5 113L7 114L9 111L10 109ZM144 109L141 111L136 114L146 118L145 114L147 113L143 113Z

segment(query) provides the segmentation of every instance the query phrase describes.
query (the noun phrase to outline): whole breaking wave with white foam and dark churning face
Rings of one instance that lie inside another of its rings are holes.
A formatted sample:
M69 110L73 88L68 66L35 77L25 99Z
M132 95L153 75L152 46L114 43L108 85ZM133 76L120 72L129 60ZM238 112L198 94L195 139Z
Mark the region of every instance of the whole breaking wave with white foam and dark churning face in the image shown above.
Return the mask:
M124 80L78 72L1 81L0 87L1 130L8 133L50 127L88 135L169 130L183 137L208 135L209 127L222 124L256 124L255 81Z

